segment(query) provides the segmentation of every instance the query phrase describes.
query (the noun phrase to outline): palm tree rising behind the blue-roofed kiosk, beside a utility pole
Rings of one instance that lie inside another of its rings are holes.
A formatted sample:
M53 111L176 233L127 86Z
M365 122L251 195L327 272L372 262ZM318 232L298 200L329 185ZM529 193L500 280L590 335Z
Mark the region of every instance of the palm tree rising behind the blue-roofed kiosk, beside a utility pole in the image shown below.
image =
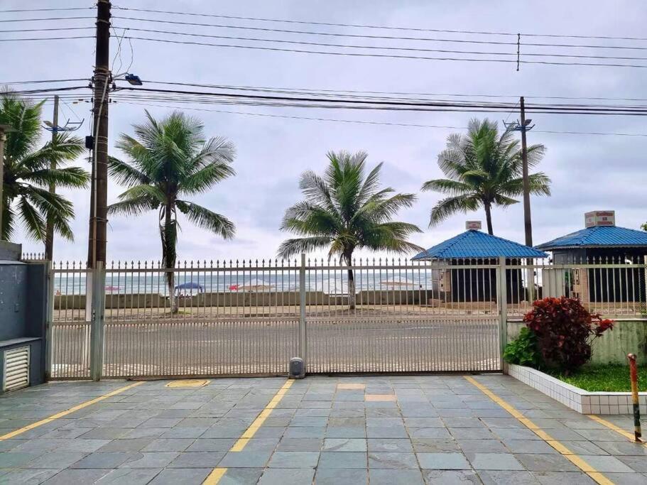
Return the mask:
M543 145L528 147L528 166L537 165L546 149ZM521 149L513 131L499 136L496 122L472 119L467 135L454 133L447 137L447 148L438 155L440 170L447 176L428 180L422 190L448 195L431 210L430 227L456 212L467 213L483 206L487 231L492 233L491 209L495 205L516 204L523 194ZM528 176L531 194L550 195L550 179L538 172Z

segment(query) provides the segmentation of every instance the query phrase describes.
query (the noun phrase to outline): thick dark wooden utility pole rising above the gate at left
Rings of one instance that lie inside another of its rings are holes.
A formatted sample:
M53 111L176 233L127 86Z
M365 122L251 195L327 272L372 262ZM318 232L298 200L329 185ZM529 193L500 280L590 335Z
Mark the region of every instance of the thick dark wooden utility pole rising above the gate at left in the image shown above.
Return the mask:
M97 1L97 45L94 61L94 137L92 159L92 192L87 261L94 268L106 261L106 227L108 207L108 105L110 84L110 1Z

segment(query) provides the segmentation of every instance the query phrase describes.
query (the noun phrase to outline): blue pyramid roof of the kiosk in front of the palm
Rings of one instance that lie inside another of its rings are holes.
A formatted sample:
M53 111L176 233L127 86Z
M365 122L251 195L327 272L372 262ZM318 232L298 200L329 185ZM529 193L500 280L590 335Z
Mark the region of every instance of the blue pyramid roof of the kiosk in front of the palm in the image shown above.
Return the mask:
M469 231L413 256L413 260L499 258L499 256L505 258L546 258L548 254L502 237L490 236L484 232L469 229Z

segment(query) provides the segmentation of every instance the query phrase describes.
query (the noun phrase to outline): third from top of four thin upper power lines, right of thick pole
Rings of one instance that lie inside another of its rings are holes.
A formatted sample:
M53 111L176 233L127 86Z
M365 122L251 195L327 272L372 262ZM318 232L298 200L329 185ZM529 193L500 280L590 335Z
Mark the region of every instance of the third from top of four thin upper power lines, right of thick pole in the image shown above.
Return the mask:
M335 48L357 48L357 49L371 49L371 50L406 50L414 52L432 52L432 53L448 53L448 54L472 54L472 55L507 55L516 58L514 52L491 52L491 51L474 51L474 50L447 50L447 49L427 49L427 48L411 48L411 47L392 47L384 45L352 45L352 44L332 44L332 43L319 43L319 42L306 42L303 40L285 40L285 39L266 39L257 37L237 37L237 36L214 36L212 34L202 33L188 33L188 32L175 32L175 31L159 31L148 28L131 28L131 27L118 27L123 28L125 31L148 32L148 33L163 33L173 36L191 36L191 37L204 37L204 38L218 38L230 40L251 40L254 42L268 42L268 43L285 43L295 45L316 45L320 47L335 47ZM582 58L582 59L610 59L610 60L647 60L646 57L619 57L607 55L583 55L583 54L555 54L555 53L524 53L523 57L557 57L557 58ZM647 67L647 66L645 66Z

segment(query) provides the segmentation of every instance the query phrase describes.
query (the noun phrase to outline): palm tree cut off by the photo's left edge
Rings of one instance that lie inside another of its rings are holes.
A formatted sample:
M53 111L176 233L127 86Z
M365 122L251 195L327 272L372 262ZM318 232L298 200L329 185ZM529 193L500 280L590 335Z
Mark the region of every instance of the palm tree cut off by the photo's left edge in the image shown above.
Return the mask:
M11 239L20 220L28 237L44 242L48 218L58 234L74 239L70 228L72 202L49 192L48 187L87 186L89 175L85 170L57 166L80 156L84 143L69 133L57 133L38 148L42 106L43 102L35 104L11 92L1 95L0 124L8 124L13 131L6 133L0 239ZM50 168L50 163L57 168Z

